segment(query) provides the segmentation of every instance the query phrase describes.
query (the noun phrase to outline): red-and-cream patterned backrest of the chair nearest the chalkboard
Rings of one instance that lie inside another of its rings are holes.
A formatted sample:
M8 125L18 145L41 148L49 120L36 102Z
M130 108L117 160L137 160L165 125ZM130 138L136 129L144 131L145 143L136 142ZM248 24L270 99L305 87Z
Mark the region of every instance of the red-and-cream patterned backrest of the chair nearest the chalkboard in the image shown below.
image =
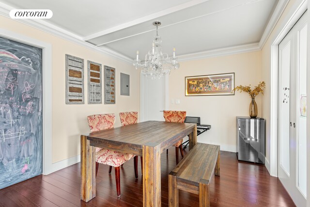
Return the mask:
M94 114L87 116L87 120L91 132L101 131L114 127L115 114L114 113Z

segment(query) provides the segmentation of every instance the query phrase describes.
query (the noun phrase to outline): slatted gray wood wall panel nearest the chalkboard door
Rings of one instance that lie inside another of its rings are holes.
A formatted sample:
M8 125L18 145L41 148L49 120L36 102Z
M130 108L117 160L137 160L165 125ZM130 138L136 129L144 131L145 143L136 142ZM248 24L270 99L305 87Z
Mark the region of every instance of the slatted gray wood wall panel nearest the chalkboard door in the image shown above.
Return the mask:
M84 104L84 59L66 54L66 104Z

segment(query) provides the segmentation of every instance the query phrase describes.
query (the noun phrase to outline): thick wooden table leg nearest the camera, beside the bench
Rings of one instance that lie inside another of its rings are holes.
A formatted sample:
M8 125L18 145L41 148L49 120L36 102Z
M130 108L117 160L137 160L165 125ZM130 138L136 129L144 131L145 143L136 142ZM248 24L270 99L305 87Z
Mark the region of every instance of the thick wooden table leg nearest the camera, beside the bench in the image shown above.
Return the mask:
M142 146L143 154L143 207L161 206L160 152L158 146Z

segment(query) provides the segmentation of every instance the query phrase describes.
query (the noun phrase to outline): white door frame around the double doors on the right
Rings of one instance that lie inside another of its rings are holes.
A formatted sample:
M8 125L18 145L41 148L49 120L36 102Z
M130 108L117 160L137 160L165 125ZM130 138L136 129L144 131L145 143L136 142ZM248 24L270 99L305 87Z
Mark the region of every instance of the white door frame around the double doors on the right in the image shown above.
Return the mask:
M269 173L272 176L278 177L278 79L279 79L279 44L286 36L286 34L292 29L294 24L307 10L308 0L303 0L301 3L297 2L298 5L294 5L296 8L290 11L291 15L284 21L284 25L280 28L278 35L272 41L271 45L271 70L270 70L270 80L271 80L271 99L270 99L270 167ZM286 22L286 23L285 23ZM268 162L268 161L267 161ZM266 163L266 162L265 162ZM268 166L266 166L268 168Z

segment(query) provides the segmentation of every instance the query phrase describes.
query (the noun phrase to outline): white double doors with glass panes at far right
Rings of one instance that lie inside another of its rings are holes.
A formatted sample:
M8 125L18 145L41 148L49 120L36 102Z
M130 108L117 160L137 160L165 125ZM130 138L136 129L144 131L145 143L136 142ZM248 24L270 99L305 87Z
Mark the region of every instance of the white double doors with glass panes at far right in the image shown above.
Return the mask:
M279 44L278 176L297 207L306 206L307 14Z

